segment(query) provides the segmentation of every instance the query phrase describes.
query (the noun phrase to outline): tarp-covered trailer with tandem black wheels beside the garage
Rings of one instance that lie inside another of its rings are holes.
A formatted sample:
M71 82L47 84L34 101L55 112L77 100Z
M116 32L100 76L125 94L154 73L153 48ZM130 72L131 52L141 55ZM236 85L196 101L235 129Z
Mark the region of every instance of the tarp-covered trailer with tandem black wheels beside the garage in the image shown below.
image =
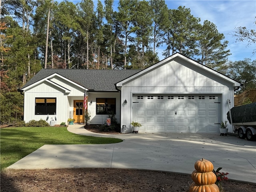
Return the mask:
M256 103L231 108L227 118L239 138L256 138Z

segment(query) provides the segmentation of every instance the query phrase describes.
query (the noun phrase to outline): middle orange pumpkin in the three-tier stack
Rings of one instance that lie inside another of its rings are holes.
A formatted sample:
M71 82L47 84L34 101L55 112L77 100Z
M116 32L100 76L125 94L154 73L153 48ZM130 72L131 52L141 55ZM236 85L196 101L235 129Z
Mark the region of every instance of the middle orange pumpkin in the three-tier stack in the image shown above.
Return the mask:
M196 184L200 185L211 185L217 180L216 175L212 171L200 173L197 170L194 170L191 174L191 178Z

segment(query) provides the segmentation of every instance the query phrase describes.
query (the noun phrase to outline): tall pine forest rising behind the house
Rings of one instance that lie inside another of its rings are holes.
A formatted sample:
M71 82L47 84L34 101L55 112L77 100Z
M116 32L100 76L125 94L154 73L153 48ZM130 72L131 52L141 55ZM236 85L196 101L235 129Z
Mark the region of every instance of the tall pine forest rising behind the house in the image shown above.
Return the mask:
M95 2L95 1L94 1ZM22 120L17 92L42 68L144 69L179 52L241 83L256 88L256 60L228 61L230 50L217 26L190 13L168 9L164 0L1 0L1 124ZM103 3L103 4L102 4ZM255 43L255 30L234 29L234 38ZM252 53L255 50L252 50Z

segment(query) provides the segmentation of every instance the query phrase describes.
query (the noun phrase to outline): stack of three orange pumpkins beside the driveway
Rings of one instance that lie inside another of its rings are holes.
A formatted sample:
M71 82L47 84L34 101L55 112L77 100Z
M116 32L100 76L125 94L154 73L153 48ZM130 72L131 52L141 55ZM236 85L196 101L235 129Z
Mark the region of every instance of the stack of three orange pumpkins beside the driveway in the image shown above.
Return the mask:
M191 178L194 181L190 187L189 192L220 192L218 186L215 184L217 178L213 171L213 164L202 158L196 161L195 169Z

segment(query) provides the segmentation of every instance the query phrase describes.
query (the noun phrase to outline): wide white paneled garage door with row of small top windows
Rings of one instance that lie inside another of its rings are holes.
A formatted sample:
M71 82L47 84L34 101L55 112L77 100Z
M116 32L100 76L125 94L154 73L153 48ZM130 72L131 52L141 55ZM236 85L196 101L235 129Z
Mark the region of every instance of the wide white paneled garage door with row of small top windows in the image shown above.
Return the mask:
M144 132L218 133L220 95L134 94L132 114Z

